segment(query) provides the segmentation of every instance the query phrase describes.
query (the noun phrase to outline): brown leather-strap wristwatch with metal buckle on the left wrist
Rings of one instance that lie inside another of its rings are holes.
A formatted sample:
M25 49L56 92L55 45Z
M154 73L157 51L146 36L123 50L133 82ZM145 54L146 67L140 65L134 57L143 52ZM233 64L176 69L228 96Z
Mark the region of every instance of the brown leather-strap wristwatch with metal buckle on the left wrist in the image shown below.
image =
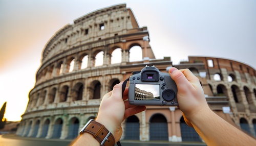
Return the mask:
M102 146L115 145L115 138L113 134L106 129L104 125L98 123L94 119L90 119L88 123L81 129L79 134L83 134L84 132L92 134Z

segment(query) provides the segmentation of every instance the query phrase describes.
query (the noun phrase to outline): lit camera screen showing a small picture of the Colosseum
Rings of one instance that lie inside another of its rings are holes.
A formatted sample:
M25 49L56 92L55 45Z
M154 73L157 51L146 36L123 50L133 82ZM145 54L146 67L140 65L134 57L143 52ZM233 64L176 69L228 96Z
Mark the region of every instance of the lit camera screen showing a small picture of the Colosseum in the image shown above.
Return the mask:
M135 84L135 100L160 100L159 84Z

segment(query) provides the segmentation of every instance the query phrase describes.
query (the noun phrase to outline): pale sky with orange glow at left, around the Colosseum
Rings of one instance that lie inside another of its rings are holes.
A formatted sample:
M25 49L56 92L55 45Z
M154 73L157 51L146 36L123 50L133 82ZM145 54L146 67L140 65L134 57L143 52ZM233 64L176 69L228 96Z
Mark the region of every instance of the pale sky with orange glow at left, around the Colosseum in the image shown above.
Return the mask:
M157 59L173 64L188 56L256 62L256 1L87 1L0 0L0 106L5 118L21 119L34 87L41 52L63 26L117 4L131 8L140 27L147 26Z

